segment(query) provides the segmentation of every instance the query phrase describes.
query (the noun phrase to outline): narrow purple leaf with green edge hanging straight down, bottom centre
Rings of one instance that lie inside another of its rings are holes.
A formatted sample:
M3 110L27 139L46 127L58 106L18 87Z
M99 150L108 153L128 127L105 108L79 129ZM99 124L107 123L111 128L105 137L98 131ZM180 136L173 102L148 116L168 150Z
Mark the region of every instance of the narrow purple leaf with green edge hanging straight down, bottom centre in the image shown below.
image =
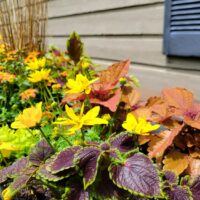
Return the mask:
M83 170L83 185L86 190L96 179L101 149L96 147L85 147L81 149L75 158L75 162Z

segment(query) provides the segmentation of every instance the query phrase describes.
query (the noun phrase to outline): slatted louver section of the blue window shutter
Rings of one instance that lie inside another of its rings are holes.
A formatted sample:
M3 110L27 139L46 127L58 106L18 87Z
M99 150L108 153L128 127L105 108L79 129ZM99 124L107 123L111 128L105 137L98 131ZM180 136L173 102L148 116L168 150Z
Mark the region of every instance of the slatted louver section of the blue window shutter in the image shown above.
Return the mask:
M170 32L200 32L200 0L172 0L170 18Z

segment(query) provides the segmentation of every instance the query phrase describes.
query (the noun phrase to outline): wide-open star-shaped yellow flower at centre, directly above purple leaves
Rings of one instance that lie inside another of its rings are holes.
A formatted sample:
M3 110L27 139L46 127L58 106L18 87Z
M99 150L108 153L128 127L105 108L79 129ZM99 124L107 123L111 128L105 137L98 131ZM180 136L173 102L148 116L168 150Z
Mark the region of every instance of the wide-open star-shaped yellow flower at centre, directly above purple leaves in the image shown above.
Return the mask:
M91 110L89 110L85 115L84 104L81 107L81 111L79 115L76 115L72 108L69 108L67 105L65 107L67 118L58 118L54 124L71 126L68 130L68 135L73 135L77 130L80 130L84 125L92 126L95 124L108 124L108 121L102 118L98 118L98 114L100 111L99 106L95 106Z

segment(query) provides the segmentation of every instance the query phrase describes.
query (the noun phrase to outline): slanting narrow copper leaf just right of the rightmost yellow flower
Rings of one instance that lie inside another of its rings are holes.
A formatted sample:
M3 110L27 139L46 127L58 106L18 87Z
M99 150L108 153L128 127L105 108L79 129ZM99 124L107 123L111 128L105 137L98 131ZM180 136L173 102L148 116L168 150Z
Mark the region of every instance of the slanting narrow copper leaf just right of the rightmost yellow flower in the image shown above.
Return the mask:
M180 133L184 125L178 125L171 131L164 131L154 136L149 142L149 157L155 158L163 155L165 150L173 143L174 138Z

